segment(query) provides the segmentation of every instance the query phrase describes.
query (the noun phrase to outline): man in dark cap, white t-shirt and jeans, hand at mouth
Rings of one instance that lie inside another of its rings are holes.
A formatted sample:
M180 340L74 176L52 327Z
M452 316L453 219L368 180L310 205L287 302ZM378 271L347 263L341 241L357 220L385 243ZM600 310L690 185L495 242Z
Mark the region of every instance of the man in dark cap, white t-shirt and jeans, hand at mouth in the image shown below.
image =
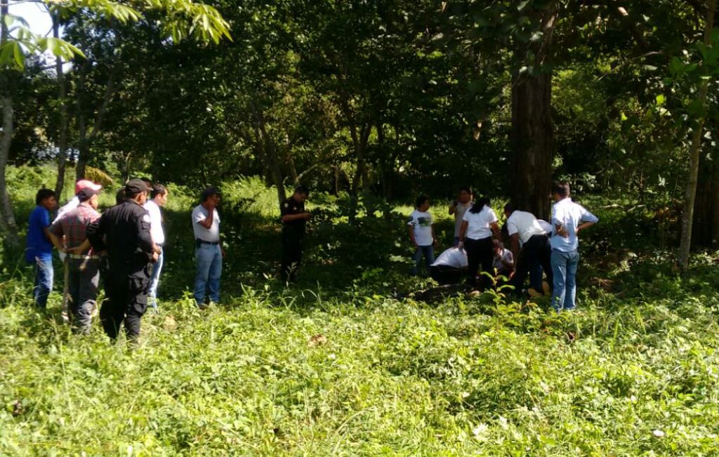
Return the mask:
M192 211L192 228L195 234L195 259L197 274L193 296L199 308L206 308L205 297L209 289L211 303L220 301L220 276L223 251L220 246L220 216L217 206L221 192L218 188L206 188L201 203Z

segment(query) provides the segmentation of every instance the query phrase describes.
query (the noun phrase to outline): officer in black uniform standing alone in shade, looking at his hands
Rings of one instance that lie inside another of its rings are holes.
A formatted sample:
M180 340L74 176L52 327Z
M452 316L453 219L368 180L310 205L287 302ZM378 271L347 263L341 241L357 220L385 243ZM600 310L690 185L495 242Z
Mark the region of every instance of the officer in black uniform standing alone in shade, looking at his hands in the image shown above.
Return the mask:
M280 205L282 216L282 271L284 282L296 280L297 270L302 259L302 241L305 236L305 223L312 217L305 211L305 200L309 190L304 186L295 189L295 193Z

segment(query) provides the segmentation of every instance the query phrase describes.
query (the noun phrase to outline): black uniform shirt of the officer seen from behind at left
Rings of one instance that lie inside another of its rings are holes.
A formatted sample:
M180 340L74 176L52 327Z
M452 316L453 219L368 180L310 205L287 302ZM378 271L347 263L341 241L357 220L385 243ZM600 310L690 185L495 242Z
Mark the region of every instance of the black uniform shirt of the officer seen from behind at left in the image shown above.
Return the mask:
M107 249L110 269L132 272L152 258L150 215L134 200L105 211L90 224L87 236L95 251Z

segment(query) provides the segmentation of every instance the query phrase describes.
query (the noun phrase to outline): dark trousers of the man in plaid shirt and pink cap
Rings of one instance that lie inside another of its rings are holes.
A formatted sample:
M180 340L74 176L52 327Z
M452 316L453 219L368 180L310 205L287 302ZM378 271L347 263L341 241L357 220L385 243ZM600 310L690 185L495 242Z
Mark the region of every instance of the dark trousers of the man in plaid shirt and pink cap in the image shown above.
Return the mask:
M100 282L99 259L68 259L68 295L75 330L88 333Z

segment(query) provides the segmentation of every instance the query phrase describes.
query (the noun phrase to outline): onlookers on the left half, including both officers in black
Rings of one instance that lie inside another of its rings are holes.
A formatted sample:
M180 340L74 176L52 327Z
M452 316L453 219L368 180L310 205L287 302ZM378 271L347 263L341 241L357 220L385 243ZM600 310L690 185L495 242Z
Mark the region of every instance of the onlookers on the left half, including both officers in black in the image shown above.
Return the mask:
M75 184L75 195L58 210L55 192L40 189L29 216L25 259L35 269L33 299L38 308L47 307L52 292L53 246L64 263L63 317L78 333L88 333L97 308L100 282L105 300L99 315L105 333L115 339L124 328L129 339L139 336L140 319L148 306L157 310L157 287L164 263L165 230L160 208L168 202L168 189L147 179L129 180L116 195L116 204L99 213L102 186L89 180ZM280 205L283 223L281 277L296 280L302 257L307 188L296 188ZM199 308L219 303L222 259L217 211L221 191L203 190L191 213L195 240L196 274L193 297Z

